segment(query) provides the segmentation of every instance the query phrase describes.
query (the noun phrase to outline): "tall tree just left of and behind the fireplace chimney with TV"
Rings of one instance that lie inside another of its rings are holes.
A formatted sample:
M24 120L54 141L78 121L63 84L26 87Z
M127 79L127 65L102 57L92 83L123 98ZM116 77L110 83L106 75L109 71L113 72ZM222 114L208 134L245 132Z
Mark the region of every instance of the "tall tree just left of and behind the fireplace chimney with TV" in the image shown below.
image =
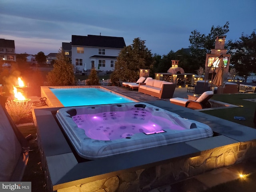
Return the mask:
M215 47L215 40L217 36L225 36L229 32L229 22L226 22L224 26L212 26L208 35L201 34L197 30L191 32L189 36L191 54L198 58L199 66L204 66L206 53L210 53L211 49ZM226 48L229 49L231 40L226 43Z

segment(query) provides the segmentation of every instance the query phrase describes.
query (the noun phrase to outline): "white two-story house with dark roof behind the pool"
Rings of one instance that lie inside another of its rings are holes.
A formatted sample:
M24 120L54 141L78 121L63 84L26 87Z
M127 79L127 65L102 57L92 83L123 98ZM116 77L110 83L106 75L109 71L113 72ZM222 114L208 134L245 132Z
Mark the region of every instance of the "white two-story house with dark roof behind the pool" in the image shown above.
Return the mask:
M126 46L124 38L101 35L72 35L71 62L76 73L96 68L113 71L118 54Z

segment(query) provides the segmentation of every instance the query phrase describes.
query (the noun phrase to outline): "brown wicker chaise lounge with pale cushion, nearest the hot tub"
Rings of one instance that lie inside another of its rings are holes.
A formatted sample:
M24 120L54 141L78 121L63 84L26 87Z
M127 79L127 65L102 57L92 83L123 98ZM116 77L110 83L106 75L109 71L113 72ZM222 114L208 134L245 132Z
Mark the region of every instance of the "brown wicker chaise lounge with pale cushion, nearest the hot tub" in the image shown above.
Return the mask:
M188 100L184 98L170 98L172 104L180 105L190 109L205 109L211 108L211 104L208 101L213 96L212 91L204 92L197 100Z

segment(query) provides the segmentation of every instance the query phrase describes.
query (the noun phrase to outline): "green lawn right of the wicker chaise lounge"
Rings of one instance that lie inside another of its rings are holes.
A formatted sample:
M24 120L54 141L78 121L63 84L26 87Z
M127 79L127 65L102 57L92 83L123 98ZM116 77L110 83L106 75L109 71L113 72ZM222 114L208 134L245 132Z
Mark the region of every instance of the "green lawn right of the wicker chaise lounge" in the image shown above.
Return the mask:
M246 100L254 98L256 101L256 94L214 94L212 100L237 105L240 107L223 108L218 110L205 110L202 112L244 126L255 128L254 113L256 110L256 102ZM242 116L246 120L236 120L234 119L234 116Z

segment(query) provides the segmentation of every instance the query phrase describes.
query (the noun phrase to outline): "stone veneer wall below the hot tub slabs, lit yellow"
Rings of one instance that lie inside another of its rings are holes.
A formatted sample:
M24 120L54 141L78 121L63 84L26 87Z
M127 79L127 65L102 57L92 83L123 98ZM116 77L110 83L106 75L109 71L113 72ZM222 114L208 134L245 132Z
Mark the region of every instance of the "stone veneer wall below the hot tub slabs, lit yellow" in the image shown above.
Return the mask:
M58 192L147 192L254 156L256 141L238 142L203 151L200 156L172 159L165 164L62 188Z

